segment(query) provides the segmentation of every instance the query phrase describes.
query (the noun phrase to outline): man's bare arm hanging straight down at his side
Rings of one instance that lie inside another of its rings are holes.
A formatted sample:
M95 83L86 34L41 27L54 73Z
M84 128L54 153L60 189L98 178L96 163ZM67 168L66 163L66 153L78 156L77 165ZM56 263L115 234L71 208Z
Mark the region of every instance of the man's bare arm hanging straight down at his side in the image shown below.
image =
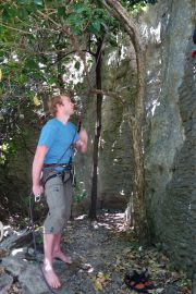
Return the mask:
M40 195L44 191L40 184L40 174L44 164L44 159L48 148L45 145L38 146L34 157L33 168L32 168L32 180L33 180L33 193L34 195Z

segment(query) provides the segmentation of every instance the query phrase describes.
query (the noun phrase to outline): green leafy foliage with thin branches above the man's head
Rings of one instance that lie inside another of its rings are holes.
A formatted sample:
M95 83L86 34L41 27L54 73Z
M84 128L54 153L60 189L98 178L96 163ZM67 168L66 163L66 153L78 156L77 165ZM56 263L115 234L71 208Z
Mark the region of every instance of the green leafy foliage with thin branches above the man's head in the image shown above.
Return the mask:
M122 1L132 8L145 2ZM114 46L120 29L101 3L93 0L4 0L0 23L1 142L10 142L21 132L13 126L24 122L24 103L40 119L45 115L42 94L47 97L59 88L74 89L75 72L84 72L82 60L75 57L78 48L95 54L97 40L106 33L107 41Z

